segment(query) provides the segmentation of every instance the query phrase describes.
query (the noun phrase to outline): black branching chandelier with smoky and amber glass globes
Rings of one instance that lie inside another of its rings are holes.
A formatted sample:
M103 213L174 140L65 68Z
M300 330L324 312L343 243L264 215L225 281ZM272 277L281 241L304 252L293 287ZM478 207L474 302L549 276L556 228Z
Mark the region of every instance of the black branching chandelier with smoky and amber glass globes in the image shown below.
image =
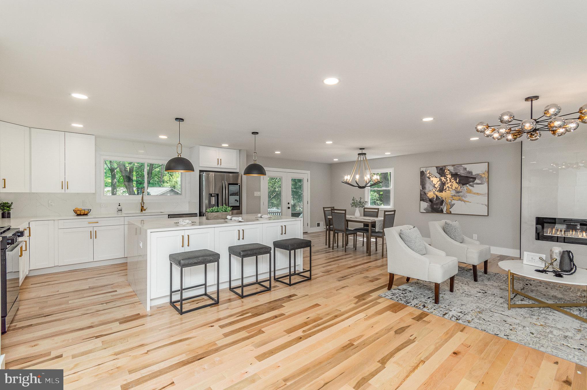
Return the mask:
M491 137L494 140L501 140L505 138L506 141L513 142L522 135L526 134L526 138L530 141L536 141L540 138L542 131L550 131L555 137L561 137L566 133L575 131L579 127L579 122L587 123L587 104L583 104L579 111L570 114L561 115L561 106L558 104L549 104L544 107L542 116L534 119L532 118L532 105L534 100L538 100L539 96L528 96L525 101L530 102L530 118L519 120L514 118L514 113L511 111L504 111L499 117L501 124L490 126L486 122L479 122L475 126L477 133L483 133L485 137ZM569 115L579 114L576 118L564 118ZM542 119L544 118L544 119ZM514 123L517 121L518 123Z

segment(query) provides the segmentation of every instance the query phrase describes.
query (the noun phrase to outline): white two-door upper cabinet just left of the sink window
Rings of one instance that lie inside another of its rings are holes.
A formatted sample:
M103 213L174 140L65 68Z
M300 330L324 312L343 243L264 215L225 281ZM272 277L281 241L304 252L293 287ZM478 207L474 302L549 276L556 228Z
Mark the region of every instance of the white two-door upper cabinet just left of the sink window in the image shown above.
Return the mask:
M95 137L31 129L32 192L95 192Z

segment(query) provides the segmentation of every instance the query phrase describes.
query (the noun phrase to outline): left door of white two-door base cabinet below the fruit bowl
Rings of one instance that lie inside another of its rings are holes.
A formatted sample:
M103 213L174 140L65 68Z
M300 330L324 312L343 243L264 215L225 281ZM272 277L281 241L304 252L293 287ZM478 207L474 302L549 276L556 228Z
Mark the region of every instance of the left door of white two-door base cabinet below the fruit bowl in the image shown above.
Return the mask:
M93 228L58 229L59 265L88 263L94 260Z

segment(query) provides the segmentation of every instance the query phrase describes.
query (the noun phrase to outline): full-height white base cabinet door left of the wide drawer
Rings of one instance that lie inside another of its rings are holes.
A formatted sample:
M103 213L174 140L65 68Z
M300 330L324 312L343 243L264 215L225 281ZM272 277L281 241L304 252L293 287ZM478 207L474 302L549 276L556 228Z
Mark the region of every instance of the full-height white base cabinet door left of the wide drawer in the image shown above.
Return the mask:
M29 264L31 269L55 266L55 221L29 223Z

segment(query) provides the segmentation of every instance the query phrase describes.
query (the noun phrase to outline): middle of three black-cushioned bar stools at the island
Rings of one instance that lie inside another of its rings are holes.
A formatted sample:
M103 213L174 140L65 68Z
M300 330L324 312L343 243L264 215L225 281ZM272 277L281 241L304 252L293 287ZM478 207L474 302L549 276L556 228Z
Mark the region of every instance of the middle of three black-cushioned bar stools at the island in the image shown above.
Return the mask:
M232 288L232 255L241 259L241 285ZM259 280L259 256L269 255L269 279ZM245 257L255 256L255 282L245 283ZM269 286L265 286L265 282L269 282ZM254 293L245 294L245 287L254 286L258 284L265 287L264 290L255 291ZM241 288L239 293L235 289ZM271 291L271 247L259 243L234 245L228 247L228 290L237 294L241 298L250 297L255 294L261 294L265 291Z

